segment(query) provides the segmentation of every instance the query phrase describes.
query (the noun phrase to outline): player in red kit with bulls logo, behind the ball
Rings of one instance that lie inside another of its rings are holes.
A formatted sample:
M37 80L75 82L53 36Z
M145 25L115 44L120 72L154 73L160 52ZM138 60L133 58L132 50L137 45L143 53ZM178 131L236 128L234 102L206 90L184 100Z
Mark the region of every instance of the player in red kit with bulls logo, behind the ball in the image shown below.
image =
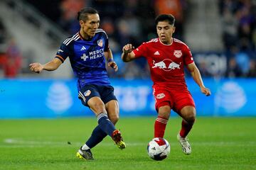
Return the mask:
M172 38L175 31L174 21L175 18L171 14L157 16L156 30L159 38L144 42L135 50L132 44L124 45L122 60L130 62L137 57L146 57L154 82L153 94L158 113L154 123L154 137L164 137L166 124L173 109L183 118L177 139L183 152L191 154L191 146L186 136L196 120L196 109L186 86L184 67L191 72L203 94L209 96L210 90L203 85L201 74L188 46L181 40Z

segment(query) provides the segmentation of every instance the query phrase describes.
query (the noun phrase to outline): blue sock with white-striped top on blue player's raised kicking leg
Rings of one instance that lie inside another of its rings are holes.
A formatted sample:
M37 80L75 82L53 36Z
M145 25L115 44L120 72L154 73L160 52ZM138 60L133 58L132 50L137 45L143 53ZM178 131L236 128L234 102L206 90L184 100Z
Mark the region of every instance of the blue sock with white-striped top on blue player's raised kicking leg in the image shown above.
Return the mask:
M107 133L107 135L110 135L112 137L112 132L116 130L114 128L114 124L110 121L110 119L107 117L106 113L100 113L97 115L97 121L99 123L100 128Z

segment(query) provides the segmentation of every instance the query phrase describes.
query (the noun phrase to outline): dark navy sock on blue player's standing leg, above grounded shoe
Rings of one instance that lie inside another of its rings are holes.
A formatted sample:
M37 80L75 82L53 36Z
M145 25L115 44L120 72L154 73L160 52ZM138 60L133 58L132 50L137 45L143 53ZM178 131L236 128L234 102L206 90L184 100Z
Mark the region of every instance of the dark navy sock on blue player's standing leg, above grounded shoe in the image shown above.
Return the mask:
M96 126L96 128L92 131L92 135L85 142L85 144L92 149L92 147L95 147L98 143L102 142L102 140L107 136L107 133L105 133L99 125Z

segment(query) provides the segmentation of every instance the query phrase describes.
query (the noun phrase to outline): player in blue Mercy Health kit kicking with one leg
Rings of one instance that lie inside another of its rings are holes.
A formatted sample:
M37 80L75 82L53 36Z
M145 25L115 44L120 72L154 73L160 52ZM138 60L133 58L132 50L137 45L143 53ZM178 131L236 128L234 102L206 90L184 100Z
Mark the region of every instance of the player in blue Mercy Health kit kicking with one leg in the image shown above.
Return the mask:
M80 147L77 157L92 160L90 149L100 143L107 135L112 137L119 149L126 147L122 135L114 125L119 119L119 106L114 96L114 88L107 76L107 65L117 71L109 47L109 40L104 30L99 28L100 16L94 8L82 8L78 12L80 31L67 38L60 45L55 58L46 64L38 62L30 64L32 72L58 69L67 57L73 72L78 77L78 98L97 116L97 127L92 135Z

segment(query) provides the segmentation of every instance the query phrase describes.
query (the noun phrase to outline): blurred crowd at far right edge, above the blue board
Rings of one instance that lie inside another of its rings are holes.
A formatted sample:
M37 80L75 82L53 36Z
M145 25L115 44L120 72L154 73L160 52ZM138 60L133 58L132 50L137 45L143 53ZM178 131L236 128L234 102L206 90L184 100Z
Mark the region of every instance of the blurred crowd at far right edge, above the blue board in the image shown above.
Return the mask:
M256 1L220 0L226 77L256 77Z

